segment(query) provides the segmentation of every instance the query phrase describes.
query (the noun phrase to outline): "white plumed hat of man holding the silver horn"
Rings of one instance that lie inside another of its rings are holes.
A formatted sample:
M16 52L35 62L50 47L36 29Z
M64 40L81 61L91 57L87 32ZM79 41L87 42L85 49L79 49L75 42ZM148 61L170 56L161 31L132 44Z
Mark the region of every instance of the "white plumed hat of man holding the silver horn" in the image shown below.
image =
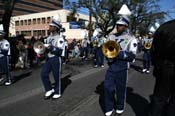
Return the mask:
M49 24L51 26L55 26L57 28L61 28L62 25L61 25L61 19L59 17L58 14L54 15L53 18L52 18L52 22Z

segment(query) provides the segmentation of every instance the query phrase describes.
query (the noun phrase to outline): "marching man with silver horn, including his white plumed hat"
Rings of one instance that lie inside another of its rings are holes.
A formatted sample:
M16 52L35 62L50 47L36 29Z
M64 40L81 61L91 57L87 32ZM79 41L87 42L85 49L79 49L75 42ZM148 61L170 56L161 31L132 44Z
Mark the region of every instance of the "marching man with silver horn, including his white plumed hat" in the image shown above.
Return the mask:
M64 56L64 38L60 35L60 29L62 25L60 24L59 17L56 15L53 17L52 22L49 24L50 36L46 40L47 47L47 58L46 62L42 67L41 79L45 88L44 98L48 99L52 95L53 99L61 97L61 56ZM55 86L49 79L49 73L53 72Z

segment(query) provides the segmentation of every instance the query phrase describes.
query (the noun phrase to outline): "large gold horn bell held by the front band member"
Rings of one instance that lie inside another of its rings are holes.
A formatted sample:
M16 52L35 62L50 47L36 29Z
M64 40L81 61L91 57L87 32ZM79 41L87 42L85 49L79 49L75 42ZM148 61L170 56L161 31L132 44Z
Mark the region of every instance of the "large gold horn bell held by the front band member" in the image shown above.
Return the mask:
M119 54L120 46L116 41L109 40L103 44L102 51L107 58L115 58Z

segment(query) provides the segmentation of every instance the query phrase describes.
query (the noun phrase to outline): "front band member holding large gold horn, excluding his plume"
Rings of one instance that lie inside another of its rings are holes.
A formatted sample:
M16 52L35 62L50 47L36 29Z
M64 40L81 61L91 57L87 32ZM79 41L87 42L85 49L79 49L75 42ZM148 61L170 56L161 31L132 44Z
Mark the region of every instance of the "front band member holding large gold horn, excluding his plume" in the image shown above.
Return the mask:
M109 68L105 75L104 95L106 116L111 116L114 110L117 114L124 112L129 62L135 59L137 51L137 40L129 33L128 27L129 18L122 16L116 23L117 33L109 36L109 39L117 42L120 48L116 52L118 53L117 57L112 58L112 62L110 61L108 63ZM113 50L112 47L110 49ZM117 50L114 49L113 51Z

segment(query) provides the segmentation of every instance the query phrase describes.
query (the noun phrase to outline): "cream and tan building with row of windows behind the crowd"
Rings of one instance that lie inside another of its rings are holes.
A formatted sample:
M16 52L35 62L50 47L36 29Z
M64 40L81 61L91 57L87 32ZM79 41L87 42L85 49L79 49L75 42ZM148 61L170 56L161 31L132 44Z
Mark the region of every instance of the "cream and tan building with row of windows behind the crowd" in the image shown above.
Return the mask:
M85 24L76 24L76 22L68 22L69 13L69 10L60 9L41 13L13 16L11 18L10 35L16 36L19 34L24 34L27 39L31 38L32 36L35 36L36 38L40 36L46 37L48 36L49 23L51 22L52 17L58 14L60 16L63 28L66 30L63 34L67 39L72 40L84 38L83 36L85 29L81 29L80 27L81 24L87 24L86 22L88 22L89 16L78 13L75 16L76 20Z

